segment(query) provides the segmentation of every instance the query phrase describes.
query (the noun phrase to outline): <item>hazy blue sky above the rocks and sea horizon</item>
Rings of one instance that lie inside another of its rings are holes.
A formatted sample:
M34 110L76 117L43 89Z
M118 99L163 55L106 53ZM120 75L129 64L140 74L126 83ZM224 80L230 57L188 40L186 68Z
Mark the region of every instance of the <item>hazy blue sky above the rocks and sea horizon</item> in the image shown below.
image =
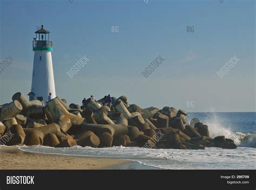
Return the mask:
M32 40L44 25L56 94L68 104L111 94L143 108L255 112L255 1L0 0L0 15L0 64L14 59L0 73L0 105L30 92ZM90 60L70 78L83 56ZM163 63L146 78L158 56Z

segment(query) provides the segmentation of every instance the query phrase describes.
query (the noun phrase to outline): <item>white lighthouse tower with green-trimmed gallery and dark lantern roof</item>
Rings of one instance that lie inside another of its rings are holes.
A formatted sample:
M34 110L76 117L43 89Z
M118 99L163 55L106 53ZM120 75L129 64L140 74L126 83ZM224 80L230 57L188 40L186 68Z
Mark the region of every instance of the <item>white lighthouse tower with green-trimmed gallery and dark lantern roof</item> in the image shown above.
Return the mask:
M43 25L35 33L36 38L33 38L33 51L35 55L32 86L31 92L28 95L30 100L38 99L46 103L49 93L51 93L51 98L56 97L51 59L52 41L49 41L50 31L45 30ZM48 40L46 40L46 35L48 35Z

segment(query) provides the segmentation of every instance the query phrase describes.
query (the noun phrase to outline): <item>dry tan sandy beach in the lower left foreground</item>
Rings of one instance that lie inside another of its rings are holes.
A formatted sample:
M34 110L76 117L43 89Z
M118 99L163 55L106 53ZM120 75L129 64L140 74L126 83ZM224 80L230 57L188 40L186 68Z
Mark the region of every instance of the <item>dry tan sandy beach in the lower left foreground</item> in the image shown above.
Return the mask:
M130 161L26 153L18 147L0 148L0 169L107 169Z

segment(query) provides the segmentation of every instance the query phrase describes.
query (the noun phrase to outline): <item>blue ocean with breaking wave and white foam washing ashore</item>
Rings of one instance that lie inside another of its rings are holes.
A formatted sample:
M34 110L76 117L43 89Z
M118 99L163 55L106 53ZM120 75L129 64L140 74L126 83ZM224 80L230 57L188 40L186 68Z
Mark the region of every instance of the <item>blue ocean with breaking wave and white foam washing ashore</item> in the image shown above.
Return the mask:
M80 157L120 158L135 161L110 169L256 169L256 112L188 113L208 125L212 138L218 135L233 138L235 150L206 148L205 150L149 149L139 147L19 147L25 152L76 155Z

